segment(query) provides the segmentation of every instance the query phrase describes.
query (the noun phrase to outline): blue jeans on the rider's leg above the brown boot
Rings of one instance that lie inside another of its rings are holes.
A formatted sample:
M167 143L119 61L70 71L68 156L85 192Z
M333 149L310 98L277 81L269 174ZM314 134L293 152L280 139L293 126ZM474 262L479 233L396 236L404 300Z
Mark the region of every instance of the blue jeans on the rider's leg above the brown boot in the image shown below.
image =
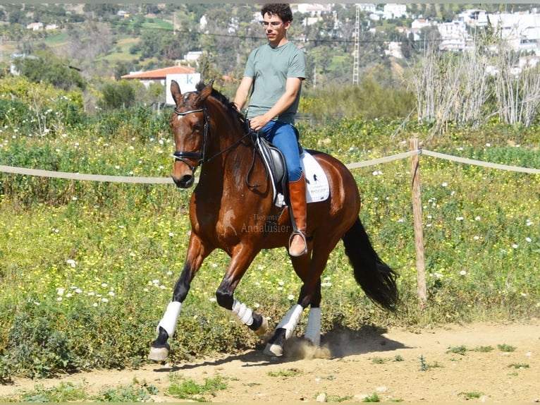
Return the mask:
M259 133L283 153L289 181L299 180L302 176L302 165L300 164L297 129L290 123L270 121L262 127Z

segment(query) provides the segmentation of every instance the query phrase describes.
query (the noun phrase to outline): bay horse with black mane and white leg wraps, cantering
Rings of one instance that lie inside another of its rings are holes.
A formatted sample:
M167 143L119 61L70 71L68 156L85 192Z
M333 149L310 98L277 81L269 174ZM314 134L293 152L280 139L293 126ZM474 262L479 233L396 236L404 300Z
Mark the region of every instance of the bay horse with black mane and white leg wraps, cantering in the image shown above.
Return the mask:
M234 291L252 260L262 249L288 246L292 230L287 207L276 207L273 186L261 155L254 149L253 131L227 97L199 83L197 90L180 92L171 83L176 107L170 119L176 151L172 155L172 178L178 188L195 183L190 199L191 234L185 264L157 326L149 359L164 361L169 353L182 303L202 262L215 249L231 258L216 301L233 317L257 334L264 334L264 316L234 297ZM322 152L309 150L329 181L330 196L307 207L308 252L291 257L293 268L302 280L297 303L276 325L264 353L282 356L283 344L293 335L305 308L309 315L304 337L319 346L321 334L321 274L331 251L343 240L345 253L357 284L374 303L395 310L398 290L394 272L375 252L360 222L360 193L345 165Z

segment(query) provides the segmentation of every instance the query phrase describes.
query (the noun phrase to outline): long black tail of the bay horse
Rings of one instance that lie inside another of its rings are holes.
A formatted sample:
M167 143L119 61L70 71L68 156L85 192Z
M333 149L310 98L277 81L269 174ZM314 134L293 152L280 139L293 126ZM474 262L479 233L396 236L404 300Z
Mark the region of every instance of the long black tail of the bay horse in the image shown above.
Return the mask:
M398 274L379 258L360 218L342 237L345 254L364 293L387 310L395 310L398 303Z

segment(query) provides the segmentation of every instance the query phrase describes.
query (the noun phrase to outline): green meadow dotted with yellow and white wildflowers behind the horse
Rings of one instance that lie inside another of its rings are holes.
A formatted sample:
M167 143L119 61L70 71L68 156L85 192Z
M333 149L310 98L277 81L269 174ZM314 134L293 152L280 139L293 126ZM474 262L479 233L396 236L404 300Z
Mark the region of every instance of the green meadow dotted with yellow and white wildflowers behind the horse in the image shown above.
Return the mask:
M0 164L168 176L173 151L168 112L154 115L133 107L86 116L77 95L54 93L45 85L27 92L16 80L9 92L8 83L2 86ZM10 92L19 95L18 102L6 96ZM50 130L39 132L43 120L32 115L31 100L43 103L39 111ZM433 138L429 128L410 123L397 132L399 125L359 118L299 128L302 145L345 163L404 152L415 136L428 150L540 167L539 128L489 123L475 131L449 128ZM401 301L395 314L369 302L338 246L324 273L323 333L363 325L539 317L539 176L427 156L420 162L427 308L417 305L410 161L354 169L362 222L381 258L400 273ZM189 197L190 190L172 184L0 174L0 381L145 362L183 267ZM213 253L197 274L171 342L173 362L261 343L215 302L227 262L225 254ZM286 251L269 250L254 260L237 298L273 325L295 303L299 289Z

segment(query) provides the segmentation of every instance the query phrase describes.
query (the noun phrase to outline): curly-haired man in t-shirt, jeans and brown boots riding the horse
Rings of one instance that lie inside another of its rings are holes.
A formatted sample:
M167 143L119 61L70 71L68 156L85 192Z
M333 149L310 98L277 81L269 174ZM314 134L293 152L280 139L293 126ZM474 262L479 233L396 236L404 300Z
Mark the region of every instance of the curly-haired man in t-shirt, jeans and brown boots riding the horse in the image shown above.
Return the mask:
M294 222L289 255L296 257L307 253L306 182L300 164L298 131L293 126L306 62L304 53L287 39L293 21L290 6L265 4L261 14L268 43L254 49L247 59L234 103L240 111L250 97L247 108L250 128L259 131L285 157Z

